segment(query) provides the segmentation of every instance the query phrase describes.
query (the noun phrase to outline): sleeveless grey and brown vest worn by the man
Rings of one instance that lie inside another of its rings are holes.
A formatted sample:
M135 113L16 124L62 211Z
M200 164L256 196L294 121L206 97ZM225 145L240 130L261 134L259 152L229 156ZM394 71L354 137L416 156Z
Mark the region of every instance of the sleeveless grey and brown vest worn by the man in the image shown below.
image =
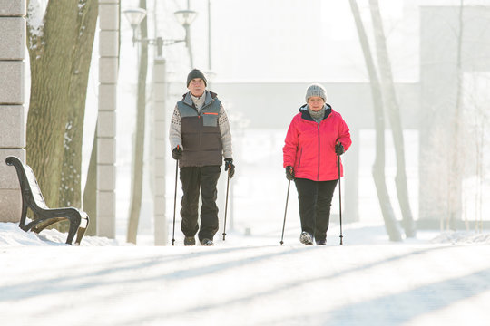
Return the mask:
M206 91L206 101L199 113L189 93L177 102L181 113L181 168L221 165L220 100L215 97L216 94L212 95L214 98L211 92Z

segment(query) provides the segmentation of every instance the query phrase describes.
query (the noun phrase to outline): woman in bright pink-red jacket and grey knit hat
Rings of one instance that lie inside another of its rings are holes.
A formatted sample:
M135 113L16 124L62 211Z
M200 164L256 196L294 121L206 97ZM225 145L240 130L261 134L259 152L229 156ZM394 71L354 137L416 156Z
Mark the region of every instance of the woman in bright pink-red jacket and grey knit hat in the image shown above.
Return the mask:
M283 150L286 177L298 189L301 235L304 245L326 245L330 206L338 181L338 155L352 141L342 116L327 104L327 92L311 84L307 104L289 125ZM340 166L341 175L343 174Z

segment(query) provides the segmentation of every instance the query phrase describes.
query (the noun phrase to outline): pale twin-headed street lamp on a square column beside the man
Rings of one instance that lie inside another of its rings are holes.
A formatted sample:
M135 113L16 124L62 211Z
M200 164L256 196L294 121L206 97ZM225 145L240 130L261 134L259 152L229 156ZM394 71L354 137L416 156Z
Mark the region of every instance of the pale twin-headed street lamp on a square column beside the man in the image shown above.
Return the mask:
M167 129L166 123L166 110L165 100L167 97L167 85L166 85L166 61L163 58L163 46L168 46L176 43L185 43L189 49L191 67L191 42L189 37L189 27L195 19L197 13L192 10L180 10L175 12L175 17L179 23L185 29L184 39L163 39L160 36L156 36L153 39L139 39L136 35L136 30L141 24L146 11L142 8L132 8L124 10L124 14L132 26L132 43L148 43L155 45L156 55L153 60L153 218L154 218L154 241L155 245L167 244L167 219L165 216L166 211L166 198L165 198L165 157L166 157L166 142L167 135L165 130Z

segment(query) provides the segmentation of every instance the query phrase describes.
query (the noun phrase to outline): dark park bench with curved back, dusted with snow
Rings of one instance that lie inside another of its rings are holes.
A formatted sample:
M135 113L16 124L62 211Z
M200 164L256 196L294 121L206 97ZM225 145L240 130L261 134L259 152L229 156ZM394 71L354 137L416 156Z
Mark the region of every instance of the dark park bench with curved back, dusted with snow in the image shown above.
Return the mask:
M80 245L85 230L89 224L89 216L83 210L74 207L49 208L44 202L43 194L37 184L33 169L25 165L19 158L8 157L5 159L8 166L14 166L17 170L17 177L22 193L22 215L19 227L24 231L34 231L40 233L49 225L68 220L70 227L66 244L72 245L73 237L76 236L75 244ZM34 213L34 220L25 225L27 208L31 208Z

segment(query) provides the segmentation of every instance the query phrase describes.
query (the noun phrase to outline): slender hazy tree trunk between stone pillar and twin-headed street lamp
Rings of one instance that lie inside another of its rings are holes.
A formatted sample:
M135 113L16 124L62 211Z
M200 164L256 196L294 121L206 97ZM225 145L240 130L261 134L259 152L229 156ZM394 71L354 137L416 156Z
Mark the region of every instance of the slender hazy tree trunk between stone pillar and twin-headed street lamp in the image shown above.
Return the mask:
M140 7L146 9L146 0L140 0ZM141 38L147 38L148 26L146 17L142 20ZM128 222L127 241L136 244L138 235L138 223L142 207L142 176L144 154L144 122L146 109L146 75L148 71L148 43L141 43L140 67L138 72L138 103L136 117L136 141L134 143L133 172L132 172L132 197L130 216Z

